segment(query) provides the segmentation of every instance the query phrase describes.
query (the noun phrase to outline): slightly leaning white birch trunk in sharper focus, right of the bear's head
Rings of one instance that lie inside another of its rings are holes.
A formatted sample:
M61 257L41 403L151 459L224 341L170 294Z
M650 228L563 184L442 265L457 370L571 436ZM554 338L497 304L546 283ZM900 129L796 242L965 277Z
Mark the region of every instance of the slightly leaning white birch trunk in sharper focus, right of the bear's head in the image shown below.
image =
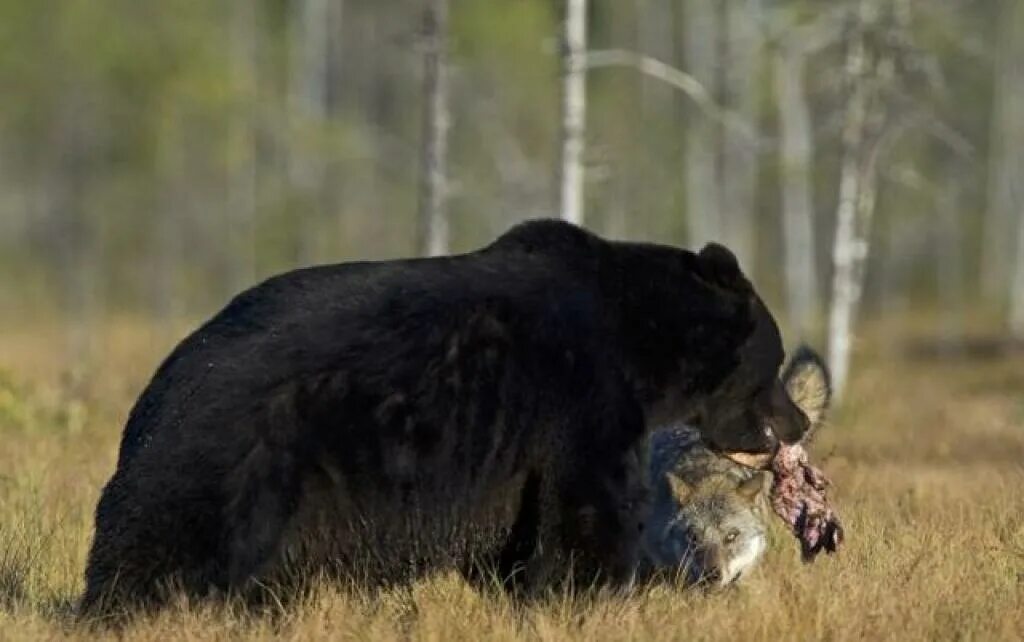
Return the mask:
M867 0L861 1L862 13L867 4ZM861 15L862 20L863 17ZM870 168L864 162L870 100L868 67L868 52L861 24L849 45L846 60L851 95L847 101L843 126L843 161L833 246L835 272L828 319L828 362L837 397L845 391L850 370L853 322L861 295L860 275L867 258L866 234L869 221L863 220L863 217L869 215L874 205L873 176L869 174Z

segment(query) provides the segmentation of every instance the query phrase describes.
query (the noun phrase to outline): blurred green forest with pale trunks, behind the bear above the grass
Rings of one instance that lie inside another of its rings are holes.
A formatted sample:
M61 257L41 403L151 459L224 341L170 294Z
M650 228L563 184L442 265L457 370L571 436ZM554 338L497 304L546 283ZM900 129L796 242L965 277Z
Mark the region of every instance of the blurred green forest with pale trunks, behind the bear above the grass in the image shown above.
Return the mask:
M726 243L841 378L858 314L1024 335L1020 0L0 0L0 332L77 360L559 215Z

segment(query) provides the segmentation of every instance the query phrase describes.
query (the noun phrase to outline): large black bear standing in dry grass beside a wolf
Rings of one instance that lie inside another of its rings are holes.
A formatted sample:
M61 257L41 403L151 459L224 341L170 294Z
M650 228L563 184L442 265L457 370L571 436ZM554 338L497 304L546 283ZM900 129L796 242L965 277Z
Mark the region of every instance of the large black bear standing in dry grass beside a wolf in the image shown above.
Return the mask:
M723 453L799 440L782 358L716 245L542 220L465 255L275 276L184 339L136 401L82 613L288 569L390 583L482 560L529 590L627 582L647 426L694 423Z

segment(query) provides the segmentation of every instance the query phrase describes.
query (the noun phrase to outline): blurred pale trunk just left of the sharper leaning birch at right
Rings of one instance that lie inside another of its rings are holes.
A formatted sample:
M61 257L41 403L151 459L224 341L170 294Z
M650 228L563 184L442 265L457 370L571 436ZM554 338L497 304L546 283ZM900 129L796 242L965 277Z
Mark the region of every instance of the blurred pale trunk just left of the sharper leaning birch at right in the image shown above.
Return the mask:
M817 312L814 253L813 130L804 90L804 54L781 48L774 55L780 136L782 236L790 318L807 336Z

